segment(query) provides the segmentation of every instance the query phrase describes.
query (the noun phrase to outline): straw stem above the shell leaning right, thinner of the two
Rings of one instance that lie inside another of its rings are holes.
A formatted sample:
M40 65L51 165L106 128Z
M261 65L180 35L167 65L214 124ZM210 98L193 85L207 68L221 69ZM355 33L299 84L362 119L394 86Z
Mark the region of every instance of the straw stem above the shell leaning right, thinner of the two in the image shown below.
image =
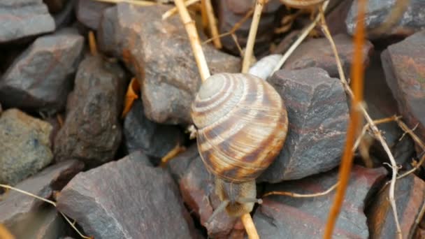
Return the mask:
M242 73L247 73L250 70L252 52L254 52L255 37L257 36L258 25L263 11L264 4L267 0L257 0L254 8L254 15L250 27L250 34L248 34L247 45L245 46L245 54L243 55Z

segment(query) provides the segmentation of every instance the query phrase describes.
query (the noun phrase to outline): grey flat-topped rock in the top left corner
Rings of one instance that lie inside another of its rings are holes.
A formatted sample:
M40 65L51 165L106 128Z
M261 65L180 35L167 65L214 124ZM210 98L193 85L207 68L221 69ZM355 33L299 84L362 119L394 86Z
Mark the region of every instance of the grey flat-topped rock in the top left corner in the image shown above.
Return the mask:
M0 43L55 30L55 21L43 0L2 0L0 19Z

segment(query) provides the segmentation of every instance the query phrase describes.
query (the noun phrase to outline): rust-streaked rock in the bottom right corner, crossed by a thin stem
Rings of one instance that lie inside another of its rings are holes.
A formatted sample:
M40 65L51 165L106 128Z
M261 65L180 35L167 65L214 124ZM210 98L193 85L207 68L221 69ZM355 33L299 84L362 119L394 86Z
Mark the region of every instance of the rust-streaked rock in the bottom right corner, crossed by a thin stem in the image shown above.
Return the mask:
M368 207L368 226L370 238L396 238L396 223L388 200L389 187L380 191ZM420 221L419 212L424 207L425 182L415 175L401 178L394 191L398 222L403 238L411 238L415 233L415 220Z

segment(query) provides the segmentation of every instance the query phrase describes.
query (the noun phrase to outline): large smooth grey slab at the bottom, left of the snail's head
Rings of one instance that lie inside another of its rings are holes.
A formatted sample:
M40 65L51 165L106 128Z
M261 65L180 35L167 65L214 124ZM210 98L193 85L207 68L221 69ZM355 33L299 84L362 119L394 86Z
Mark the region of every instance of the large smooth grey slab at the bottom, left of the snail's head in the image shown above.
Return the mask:
M79 173L57 202L94 238L193 236L192 218L171 175L135 157Z

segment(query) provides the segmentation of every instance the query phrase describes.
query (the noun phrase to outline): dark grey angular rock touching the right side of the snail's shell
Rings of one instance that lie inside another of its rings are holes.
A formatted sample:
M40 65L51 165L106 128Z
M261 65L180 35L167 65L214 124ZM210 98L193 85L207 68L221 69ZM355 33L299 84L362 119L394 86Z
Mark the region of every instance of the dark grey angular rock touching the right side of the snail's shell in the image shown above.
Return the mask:
M338 166L345 145L348 106L340 81L321 68L277 71L268 82L287 106L289 129L261 182L294 180Z

